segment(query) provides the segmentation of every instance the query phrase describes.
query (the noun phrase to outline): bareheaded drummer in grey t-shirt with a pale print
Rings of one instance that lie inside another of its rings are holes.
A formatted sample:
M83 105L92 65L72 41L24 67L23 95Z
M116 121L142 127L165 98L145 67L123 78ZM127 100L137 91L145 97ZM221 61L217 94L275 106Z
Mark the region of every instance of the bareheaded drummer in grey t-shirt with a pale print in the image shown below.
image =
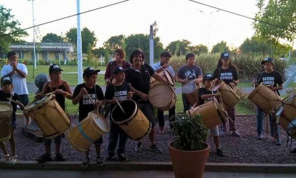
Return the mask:
M192 85L192 88L196 88L195 84L203 82L203 71L202 68L198 65L195 65L195 56L193 53L188 53L186 55L186 64L181 66L177 72L176 82L182 83L183 85ZM191 82L194 81L194 82ZM183 90L183 88L182 88ZM182 91L182 101L184 113L190 109L190 104L183 94Z

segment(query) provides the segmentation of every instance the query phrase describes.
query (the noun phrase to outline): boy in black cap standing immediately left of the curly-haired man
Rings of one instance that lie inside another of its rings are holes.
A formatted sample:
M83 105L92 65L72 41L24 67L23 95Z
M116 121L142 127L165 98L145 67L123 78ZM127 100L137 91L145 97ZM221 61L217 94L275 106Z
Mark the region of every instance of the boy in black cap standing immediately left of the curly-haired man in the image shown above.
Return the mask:
M125 80L125 71L122 67L118 66L113 70L112 84L107 85L105 92L106 104L110 104L110 111L116 106L116 100L118 102L126 99L132 99L132 92L130 85ZM117 149L117 156L120 161L128 161L128 158L124 155L126 142L128 135L123 131L113 120L110 114L110 133L108 144L108 157L104 161L111 161L114 158L114 150L117 145L119 134L119 145Z

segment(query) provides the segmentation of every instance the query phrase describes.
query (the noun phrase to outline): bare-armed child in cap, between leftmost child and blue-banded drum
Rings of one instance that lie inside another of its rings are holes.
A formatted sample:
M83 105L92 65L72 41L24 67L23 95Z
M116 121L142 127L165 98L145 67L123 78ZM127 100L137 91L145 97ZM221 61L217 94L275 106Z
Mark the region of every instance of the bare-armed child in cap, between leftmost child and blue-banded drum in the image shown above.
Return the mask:
M72 91L70 85L62 80L62 69L59 65L53 64L48 69L48 73L50 74L51 81L46 82L43 85L42 92L37 93L35 98L41 97L41 95L55 92L56 100L58 101L61 108L65 111L65 98L72 99ZM62 135L59 135L54 138L55 145L56 145L56 154L55 154L55 161L66 161L66 157L63 156L60 152ZM44 147L45 147L45 154L41 155L36 159L39 163L44 163L46 161L52 161L51 156L51 143L52 139L43 138Z

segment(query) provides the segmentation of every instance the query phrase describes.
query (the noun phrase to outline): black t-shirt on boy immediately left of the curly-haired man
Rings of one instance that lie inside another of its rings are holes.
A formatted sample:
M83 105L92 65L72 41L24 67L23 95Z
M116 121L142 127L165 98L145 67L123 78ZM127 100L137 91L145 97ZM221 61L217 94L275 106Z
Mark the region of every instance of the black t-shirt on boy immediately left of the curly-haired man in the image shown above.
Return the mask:
M129 91L131 91L130 85L126 82L123 82L120 86L114 86L113 84L110 84L106 87L105 99L110 100L113 99L113 97L115 96L117 101L120 102L128 99ZM116 106L116 104L110 105L111 111Z

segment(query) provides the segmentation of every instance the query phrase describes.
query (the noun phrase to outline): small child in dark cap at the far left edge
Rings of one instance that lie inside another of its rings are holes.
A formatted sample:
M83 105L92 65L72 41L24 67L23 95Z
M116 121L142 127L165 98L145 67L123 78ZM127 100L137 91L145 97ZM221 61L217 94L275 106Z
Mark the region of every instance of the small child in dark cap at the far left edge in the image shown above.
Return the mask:
M15 155L16 142L14 139L14 129L16 129L16 115L15 115L16 105L18 105L21 110L24 110L24 106L20 103L20 98L18 94L12 92L13 90L12 79L7 75L1 78L1 88L2 90L0 90L0 102L8 103L12 105L13 111L12 111L12 122L6 123L6 124L12 124L12 132L11 132L11 137L9 139L12 155L10 157L10 155L8 154L6 144L4 142L0 142L0 147L4 152L4 157L0 159L0 163L5 163L8 161L9 166L13 166L17 161L17 156Z

